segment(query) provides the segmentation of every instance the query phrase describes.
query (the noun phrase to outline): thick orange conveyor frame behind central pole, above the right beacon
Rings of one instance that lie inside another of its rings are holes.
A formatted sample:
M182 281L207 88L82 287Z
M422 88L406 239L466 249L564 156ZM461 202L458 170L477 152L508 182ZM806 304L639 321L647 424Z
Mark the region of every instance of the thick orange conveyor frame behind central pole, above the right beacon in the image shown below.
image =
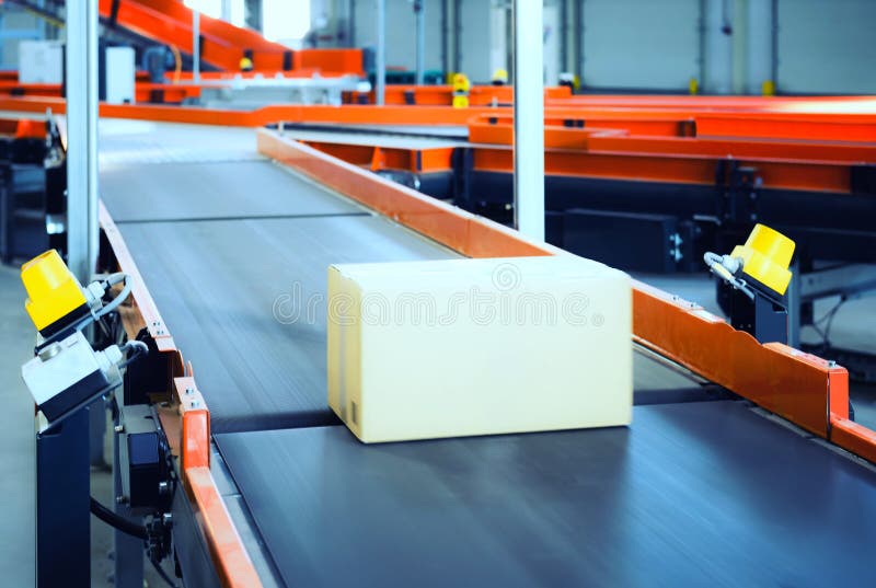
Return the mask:
M733 158L741 165L756 168L765 187L848 193L849 166L876 162L876 117L845 123L831 117L820 131L830 140L803 141L738 138L752 130L750 117L735 126L734 137L722 137L710 136L704 130L704 119L714 123L711 115L644 122L638 116L630 119L619 115L601 116L588 118L588 126L576 128L577 120L585 122L580 113L566 113L568 118L557 118L557 114L550 113L545 123L545 172L549 174L714 184L715 160ZM799 115L772 116L771 124L777 125L774 132L782 137L788 135L784 130L784 119ZM643 123L648 126L643 128ZM840 141L832 135L837 126L852 138L868 137L871 142L848 139L846 135L842 135L844 140ZM758 129L753 130L757 136ZM511 115L472 117L469 140L476 143L476 170L514 170Z

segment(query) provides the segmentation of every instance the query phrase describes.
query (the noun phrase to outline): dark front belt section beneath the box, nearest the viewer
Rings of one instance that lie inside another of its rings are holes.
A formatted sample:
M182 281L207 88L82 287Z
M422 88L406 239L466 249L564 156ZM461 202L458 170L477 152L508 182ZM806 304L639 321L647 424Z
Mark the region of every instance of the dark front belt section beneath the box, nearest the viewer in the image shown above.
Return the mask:
M288 586L871 586L876 474L742 402L630 428L217 437Z

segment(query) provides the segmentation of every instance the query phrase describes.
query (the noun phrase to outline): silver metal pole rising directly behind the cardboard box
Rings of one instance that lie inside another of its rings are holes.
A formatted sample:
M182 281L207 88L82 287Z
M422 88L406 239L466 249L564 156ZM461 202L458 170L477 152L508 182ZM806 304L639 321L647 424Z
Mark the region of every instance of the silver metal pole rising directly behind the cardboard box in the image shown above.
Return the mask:
M544 9L514 0L514 211L517 229L544 240Z

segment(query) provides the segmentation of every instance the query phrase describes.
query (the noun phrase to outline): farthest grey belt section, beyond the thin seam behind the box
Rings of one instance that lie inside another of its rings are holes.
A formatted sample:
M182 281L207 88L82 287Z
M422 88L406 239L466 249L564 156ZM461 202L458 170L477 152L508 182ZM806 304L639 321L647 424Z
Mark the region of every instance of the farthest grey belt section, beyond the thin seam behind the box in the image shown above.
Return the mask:
M349 215L364 210L269 161L142 163L101 172L116 222Z

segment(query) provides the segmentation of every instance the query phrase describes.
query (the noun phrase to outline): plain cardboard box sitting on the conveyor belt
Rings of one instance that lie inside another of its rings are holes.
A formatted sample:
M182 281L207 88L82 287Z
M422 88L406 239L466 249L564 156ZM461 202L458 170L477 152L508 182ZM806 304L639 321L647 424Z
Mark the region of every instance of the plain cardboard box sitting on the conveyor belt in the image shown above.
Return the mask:
M328 268L328 405L365 442L627 425L630 277L574 255Z

